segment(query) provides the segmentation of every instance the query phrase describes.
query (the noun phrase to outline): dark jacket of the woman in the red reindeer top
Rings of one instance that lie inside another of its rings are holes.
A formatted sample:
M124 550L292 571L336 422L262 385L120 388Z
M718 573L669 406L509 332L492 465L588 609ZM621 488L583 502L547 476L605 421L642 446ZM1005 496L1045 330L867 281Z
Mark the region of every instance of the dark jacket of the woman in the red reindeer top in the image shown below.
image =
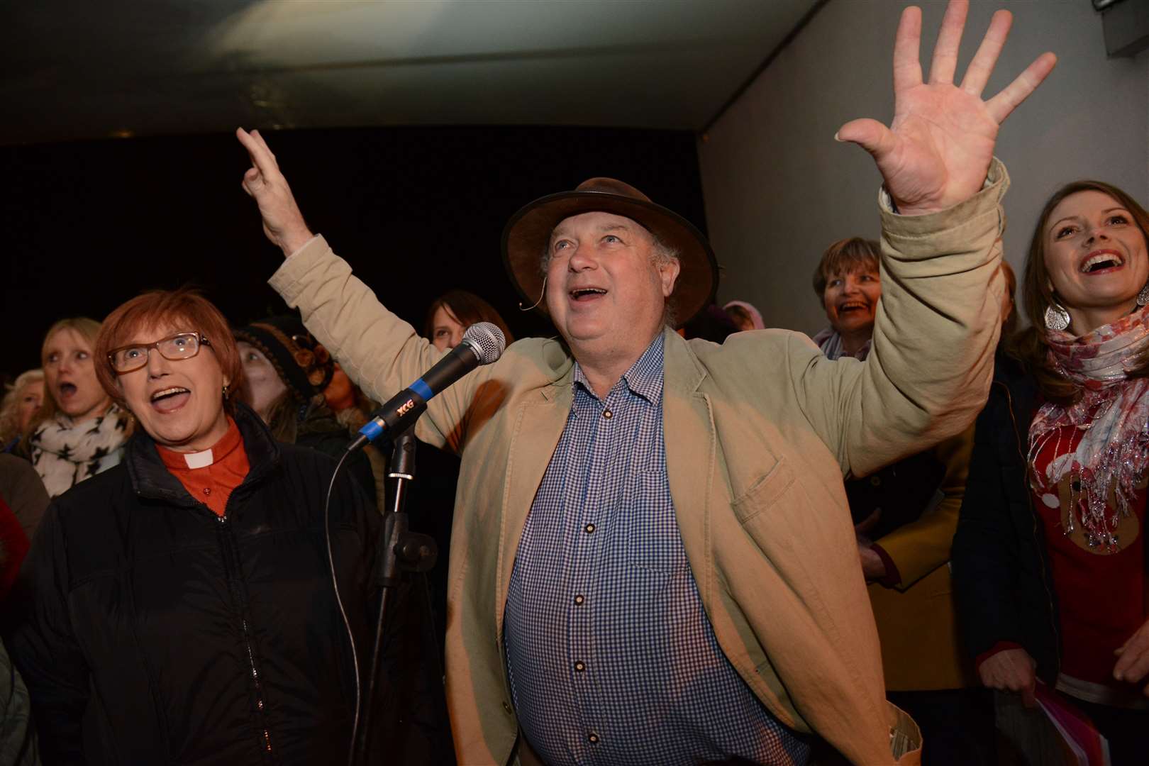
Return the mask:
M976 658L1001 641L1020 644L1038 661L1038 675L1052 683L1061 653L1057 602L1026 474L1036 404L1033 378L998 354L989 401L974 430L951 556L969 655Z

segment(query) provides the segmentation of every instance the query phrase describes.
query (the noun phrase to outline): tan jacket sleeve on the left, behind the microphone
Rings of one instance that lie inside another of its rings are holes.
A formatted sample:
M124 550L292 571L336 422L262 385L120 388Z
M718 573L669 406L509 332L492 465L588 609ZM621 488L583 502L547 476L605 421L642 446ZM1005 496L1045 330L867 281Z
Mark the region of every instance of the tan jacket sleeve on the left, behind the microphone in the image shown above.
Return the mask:
M442 357L411 325L383 307L323 237L293 253L269 284L287 305L300 310L303 324L344 372L378 402L410 386ZM415 426L419 439L460 451L480 372L471 372L427 403L427 415Z

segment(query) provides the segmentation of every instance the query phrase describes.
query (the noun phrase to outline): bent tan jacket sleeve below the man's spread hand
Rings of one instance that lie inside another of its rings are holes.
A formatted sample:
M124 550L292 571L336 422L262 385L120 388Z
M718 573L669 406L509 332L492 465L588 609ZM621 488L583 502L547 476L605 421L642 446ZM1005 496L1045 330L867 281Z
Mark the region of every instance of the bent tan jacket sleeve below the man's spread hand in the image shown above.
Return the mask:
M964 430L985 404L1001 331L1005 167L987 186L925 216L882 200L881 300L865 362L789 345L800 407L843 473L865 475Z

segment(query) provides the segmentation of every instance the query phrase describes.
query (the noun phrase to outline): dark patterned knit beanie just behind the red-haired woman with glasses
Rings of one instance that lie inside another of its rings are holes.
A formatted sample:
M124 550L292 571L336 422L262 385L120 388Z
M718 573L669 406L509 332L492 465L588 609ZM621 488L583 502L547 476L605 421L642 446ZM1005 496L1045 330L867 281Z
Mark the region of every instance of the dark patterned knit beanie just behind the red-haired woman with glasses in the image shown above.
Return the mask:
M331 355L296 316L261 319L233 334L263 351L300 403L309 402L331 382L336 371Z

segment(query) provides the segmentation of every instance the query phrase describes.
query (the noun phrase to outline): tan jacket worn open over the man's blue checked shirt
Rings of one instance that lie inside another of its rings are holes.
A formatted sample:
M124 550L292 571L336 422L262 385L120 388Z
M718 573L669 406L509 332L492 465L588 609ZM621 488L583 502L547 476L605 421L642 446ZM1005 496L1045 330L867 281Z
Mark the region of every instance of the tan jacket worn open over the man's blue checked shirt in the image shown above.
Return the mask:
M723 346L665 333L666 470L718 642L779 720L867 766L893 763L918 735L885 701L842 475L959 432L986 400L1002 291L1000 163L990 178L947 211L882 214L884 294L864 363L830 362L785 331L738 333ZM377 400L439 358L322 238L271 285ZM570 410L572 366L560 340L522 340L432 400L417 426L421 439L463 455L447 613L461 764L514 757L503 609L526 514Z

